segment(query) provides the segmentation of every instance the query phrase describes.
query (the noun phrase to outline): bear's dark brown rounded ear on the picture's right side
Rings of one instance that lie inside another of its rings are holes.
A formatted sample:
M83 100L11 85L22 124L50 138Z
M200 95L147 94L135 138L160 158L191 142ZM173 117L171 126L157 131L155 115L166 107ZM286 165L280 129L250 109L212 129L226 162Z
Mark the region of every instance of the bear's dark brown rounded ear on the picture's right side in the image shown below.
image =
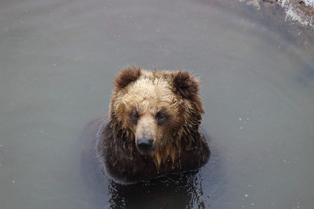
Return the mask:
M200 90L199 81L195 76L186 71L176 71L173 78L173 85L180 94L190 100L198 100Z

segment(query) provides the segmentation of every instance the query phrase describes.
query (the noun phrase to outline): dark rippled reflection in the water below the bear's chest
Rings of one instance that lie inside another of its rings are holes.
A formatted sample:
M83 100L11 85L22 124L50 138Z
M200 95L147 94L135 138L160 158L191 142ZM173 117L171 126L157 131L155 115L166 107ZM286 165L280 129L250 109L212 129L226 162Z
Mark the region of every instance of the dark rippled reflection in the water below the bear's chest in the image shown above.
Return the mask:
M205 208L197 171L161 176L133 185L109 184L111 208Z

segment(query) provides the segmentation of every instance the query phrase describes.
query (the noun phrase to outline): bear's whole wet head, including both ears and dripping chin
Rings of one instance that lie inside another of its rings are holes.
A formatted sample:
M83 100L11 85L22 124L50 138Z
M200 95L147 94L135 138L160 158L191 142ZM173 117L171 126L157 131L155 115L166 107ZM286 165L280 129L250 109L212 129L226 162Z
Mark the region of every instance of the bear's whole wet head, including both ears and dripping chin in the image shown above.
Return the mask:
M204 114L198 78L187 71L146 71L126 67L114 78L111 127L130 153L159 166L182 149L193 149Z

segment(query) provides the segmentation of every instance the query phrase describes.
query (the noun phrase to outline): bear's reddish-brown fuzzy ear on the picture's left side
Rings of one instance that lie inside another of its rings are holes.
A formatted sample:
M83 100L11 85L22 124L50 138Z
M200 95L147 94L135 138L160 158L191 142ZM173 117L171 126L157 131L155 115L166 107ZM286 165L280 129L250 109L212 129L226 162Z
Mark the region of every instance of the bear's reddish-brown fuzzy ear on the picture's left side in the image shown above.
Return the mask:
M129 83L138 80L141 75L141 68L127 66L127 68L119 68L120 73L113 79L113 84L117 89L122 89Z

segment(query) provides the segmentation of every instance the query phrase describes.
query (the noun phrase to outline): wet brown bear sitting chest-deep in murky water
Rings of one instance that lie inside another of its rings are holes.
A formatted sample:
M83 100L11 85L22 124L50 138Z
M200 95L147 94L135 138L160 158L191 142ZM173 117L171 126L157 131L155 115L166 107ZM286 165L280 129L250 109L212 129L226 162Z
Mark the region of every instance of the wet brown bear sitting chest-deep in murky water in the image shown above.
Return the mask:
M199 128L204 110L198 78L187 71L128 66L120 69L114 86L109 117L91 121L84 133L85 167L93 166L86 165L93 161L86 158L96 152L103 173L132 184L207 163L210 150Z

